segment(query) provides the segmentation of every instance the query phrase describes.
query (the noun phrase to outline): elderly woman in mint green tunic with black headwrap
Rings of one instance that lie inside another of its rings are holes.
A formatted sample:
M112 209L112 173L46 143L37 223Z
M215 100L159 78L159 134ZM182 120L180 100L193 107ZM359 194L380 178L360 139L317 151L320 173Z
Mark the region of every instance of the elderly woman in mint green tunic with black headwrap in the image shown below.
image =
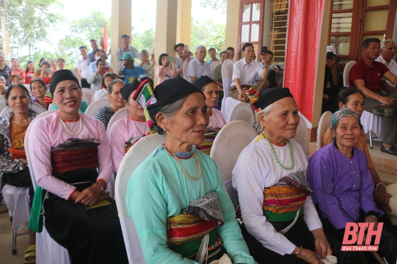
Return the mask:
M192 147L204 141L209 122L205 96L177 76L154 92L149 84L140 87L134 98L145 106L149 129L166 136L128 184L127 206L146 263L229 256L234 264L252 264L215 162Z

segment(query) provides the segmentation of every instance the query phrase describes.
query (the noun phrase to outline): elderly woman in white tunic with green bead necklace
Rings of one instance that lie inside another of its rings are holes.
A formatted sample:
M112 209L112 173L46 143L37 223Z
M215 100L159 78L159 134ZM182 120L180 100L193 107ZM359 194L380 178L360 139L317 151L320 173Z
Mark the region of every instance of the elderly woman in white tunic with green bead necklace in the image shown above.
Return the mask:
M292 140L300 121L295 99L287 88L245 91L262 132L241 152L232 182L251 256L260 264L319 264L336 256L340 245L331 248L322 229L306 181L307 158Z

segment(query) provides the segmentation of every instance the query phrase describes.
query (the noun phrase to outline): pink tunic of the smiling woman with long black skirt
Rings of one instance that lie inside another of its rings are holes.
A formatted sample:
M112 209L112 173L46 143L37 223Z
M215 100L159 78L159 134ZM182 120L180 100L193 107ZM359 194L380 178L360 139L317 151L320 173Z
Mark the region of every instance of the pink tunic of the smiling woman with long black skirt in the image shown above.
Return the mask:
M61 197L69 199L75 187L52 176L51 148L58 146L68 138L96 138L100 145L97 147L99 175L97 179L109 182L113 166L109 158L110 147L103 124L91 117L81 114L82 129L78 135L69 134L58 117L58 111L46 115L35 121L29 131L28 147L30 160L34 164L33 172L37 184L43 189ZM65 122L67 128L77 132L80 122Z

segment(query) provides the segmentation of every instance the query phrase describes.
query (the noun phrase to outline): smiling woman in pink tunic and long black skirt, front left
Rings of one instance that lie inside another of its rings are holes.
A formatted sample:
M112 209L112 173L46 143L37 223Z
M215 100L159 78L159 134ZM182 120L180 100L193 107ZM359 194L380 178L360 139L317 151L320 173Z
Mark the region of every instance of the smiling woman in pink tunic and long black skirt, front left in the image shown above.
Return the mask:
M28 135L38 185L29 228L41 231L43 205L46 229L72 263L128 263L116 203L105 191L113 171L105 127L78 112L82 93L71 71L53 75L50 93L59 110Z

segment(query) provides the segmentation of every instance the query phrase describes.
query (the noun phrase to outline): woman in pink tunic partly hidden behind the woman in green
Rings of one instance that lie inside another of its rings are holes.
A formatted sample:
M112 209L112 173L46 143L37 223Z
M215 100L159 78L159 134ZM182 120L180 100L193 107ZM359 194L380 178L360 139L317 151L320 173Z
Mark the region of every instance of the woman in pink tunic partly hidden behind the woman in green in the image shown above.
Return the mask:
M108 139L115 173L117 173L121 160L132 145L141 137L149 134L143 107L134 100L134 92L142 85L151 85L151 83L147 79L142 82L135 79L120 90L129 115L115 122L109 128Z

